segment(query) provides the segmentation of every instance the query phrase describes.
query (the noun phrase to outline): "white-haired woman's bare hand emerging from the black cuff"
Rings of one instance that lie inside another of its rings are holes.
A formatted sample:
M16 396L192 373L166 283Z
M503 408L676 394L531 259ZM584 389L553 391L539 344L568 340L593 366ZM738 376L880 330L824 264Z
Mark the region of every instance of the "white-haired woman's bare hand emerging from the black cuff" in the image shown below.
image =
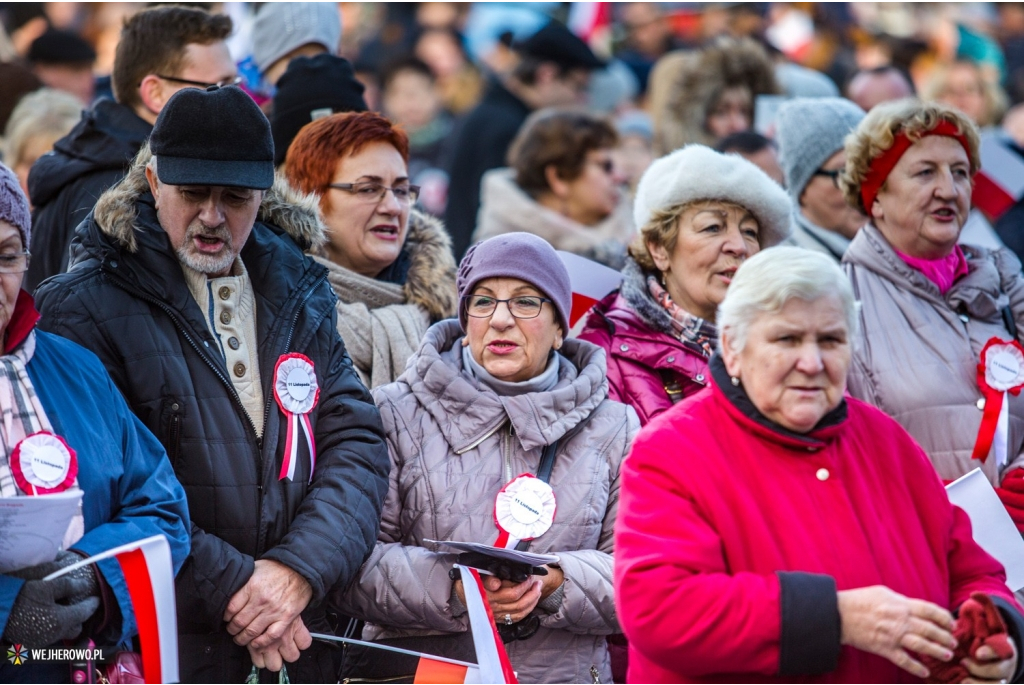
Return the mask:
M940 661L952 658L953 616L938 604L904 597L881 585L838 595L842 644L883 656L919 678L928 678L929 671L908 652Z

